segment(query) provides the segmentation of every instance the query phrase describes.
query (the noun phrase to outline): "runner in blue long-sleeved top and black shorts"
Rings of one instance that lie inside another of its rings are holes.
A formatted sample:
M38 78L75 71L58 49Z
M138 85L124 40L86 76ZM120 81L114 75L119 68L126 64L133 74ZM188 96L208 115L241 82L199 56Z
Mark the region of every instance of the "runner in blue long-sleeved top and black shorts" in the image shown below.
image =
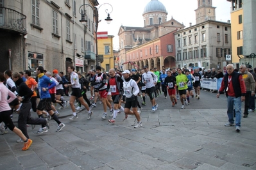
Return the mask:
M43 118L42 111L46 109L46 111L49 113L51 118L58 123L58 128L56 132L60 132L62 128L65 127L65 124L62 123L60 120L58 120L58 116L53 112L51 109L51 96L49 94L49 89L54 88L56 86L55 82L51 81L49 77L44 75L44 67L38 66L35 70L38 77L38 86L40 87L40 101L37 105L37 114L39 118ZM50 84L50 85L49 85ZM40 128L37 131L37 134L42 134L44 132L48 132L47 128L42 125L42 128Z

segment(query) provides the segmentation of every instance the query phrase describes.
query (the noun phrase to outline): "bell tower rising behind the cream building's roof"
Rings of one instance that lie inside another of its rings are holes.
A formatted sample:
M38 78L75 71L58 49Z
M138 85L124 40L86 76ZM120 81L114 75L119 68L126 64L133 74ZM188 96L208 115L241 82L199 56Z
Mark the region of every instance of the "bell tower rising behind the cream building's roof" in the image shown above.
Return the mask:
M216 20L215 8L212 7L212 0L198 0L196 12L196 24L205 20Z

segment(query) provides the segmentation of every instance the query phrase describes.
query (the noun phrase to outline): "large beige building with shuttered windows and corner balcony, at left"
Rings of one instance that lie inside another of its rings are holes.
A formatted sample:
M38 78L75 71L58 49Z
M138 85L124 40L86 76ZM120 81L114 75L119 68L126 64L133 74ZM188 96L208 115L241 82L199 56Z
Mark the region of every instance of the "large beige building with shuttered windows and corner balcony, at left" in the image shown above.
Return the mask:
M0 0L1 59L3 70L66 71L72 64L87 71L95 65L93 9L87 7L87 25L80 23L82 1ZM86 0L90 6L96 0ZM9 50L10 49L10 52ZM87 56L87 59L85 59Z

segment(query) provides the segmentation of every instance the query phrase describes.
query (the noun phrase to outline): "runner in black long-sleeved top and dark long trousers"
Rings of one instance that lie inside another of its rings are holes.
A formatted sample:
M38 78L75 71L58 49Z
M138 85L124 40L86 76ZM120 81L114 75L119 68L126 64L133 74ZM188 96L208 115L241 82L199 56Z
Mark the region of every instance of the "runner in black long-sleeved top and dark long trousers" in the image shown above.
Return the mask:
M21 109L19 112L18 118L18 127L22 131L22 133L30 139L27 132L26 124L31 125L44 125L49 128L49 121L44 118L31 118L30 109L31 102L30 98L33 95L33 91L26 85L26 83L21 79L21 75L19 73L12 73L12 79L17 86L18 100L22 103ZM22 139L17 140L17 143L22 143Z

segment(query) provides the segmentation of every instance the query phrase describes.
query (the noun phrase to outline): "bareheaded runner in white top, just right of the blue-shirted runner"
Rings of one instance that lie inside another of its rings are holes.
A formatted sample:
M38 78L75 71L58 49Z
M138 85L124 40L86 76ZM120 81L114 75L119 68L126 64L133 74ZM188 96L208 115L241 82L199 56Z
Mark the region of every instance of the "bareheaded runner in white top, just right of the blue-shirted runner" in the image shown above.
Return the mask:
M92 111L90 111L89 106L87 104L85 104L85 101L83 100L83 97L81 96L81 89L80 89L81 85L79 83L78 74L76 72L74 72L74 66L69 65L69 67L67 68L67 72L70 73L71 84L65 84L64 86L66 88L67 87L72 88L71 97L69 98L69 104L73 111L73 116L71 118L69 118L69 120L74 120L74 119L78 118L78 115L76 114L76 109L74 107L74 100L76 100L76 98L78 98L81 105L83 105L87 109L87 111L88 111L87 120L90 120L90 118L92 117Z

